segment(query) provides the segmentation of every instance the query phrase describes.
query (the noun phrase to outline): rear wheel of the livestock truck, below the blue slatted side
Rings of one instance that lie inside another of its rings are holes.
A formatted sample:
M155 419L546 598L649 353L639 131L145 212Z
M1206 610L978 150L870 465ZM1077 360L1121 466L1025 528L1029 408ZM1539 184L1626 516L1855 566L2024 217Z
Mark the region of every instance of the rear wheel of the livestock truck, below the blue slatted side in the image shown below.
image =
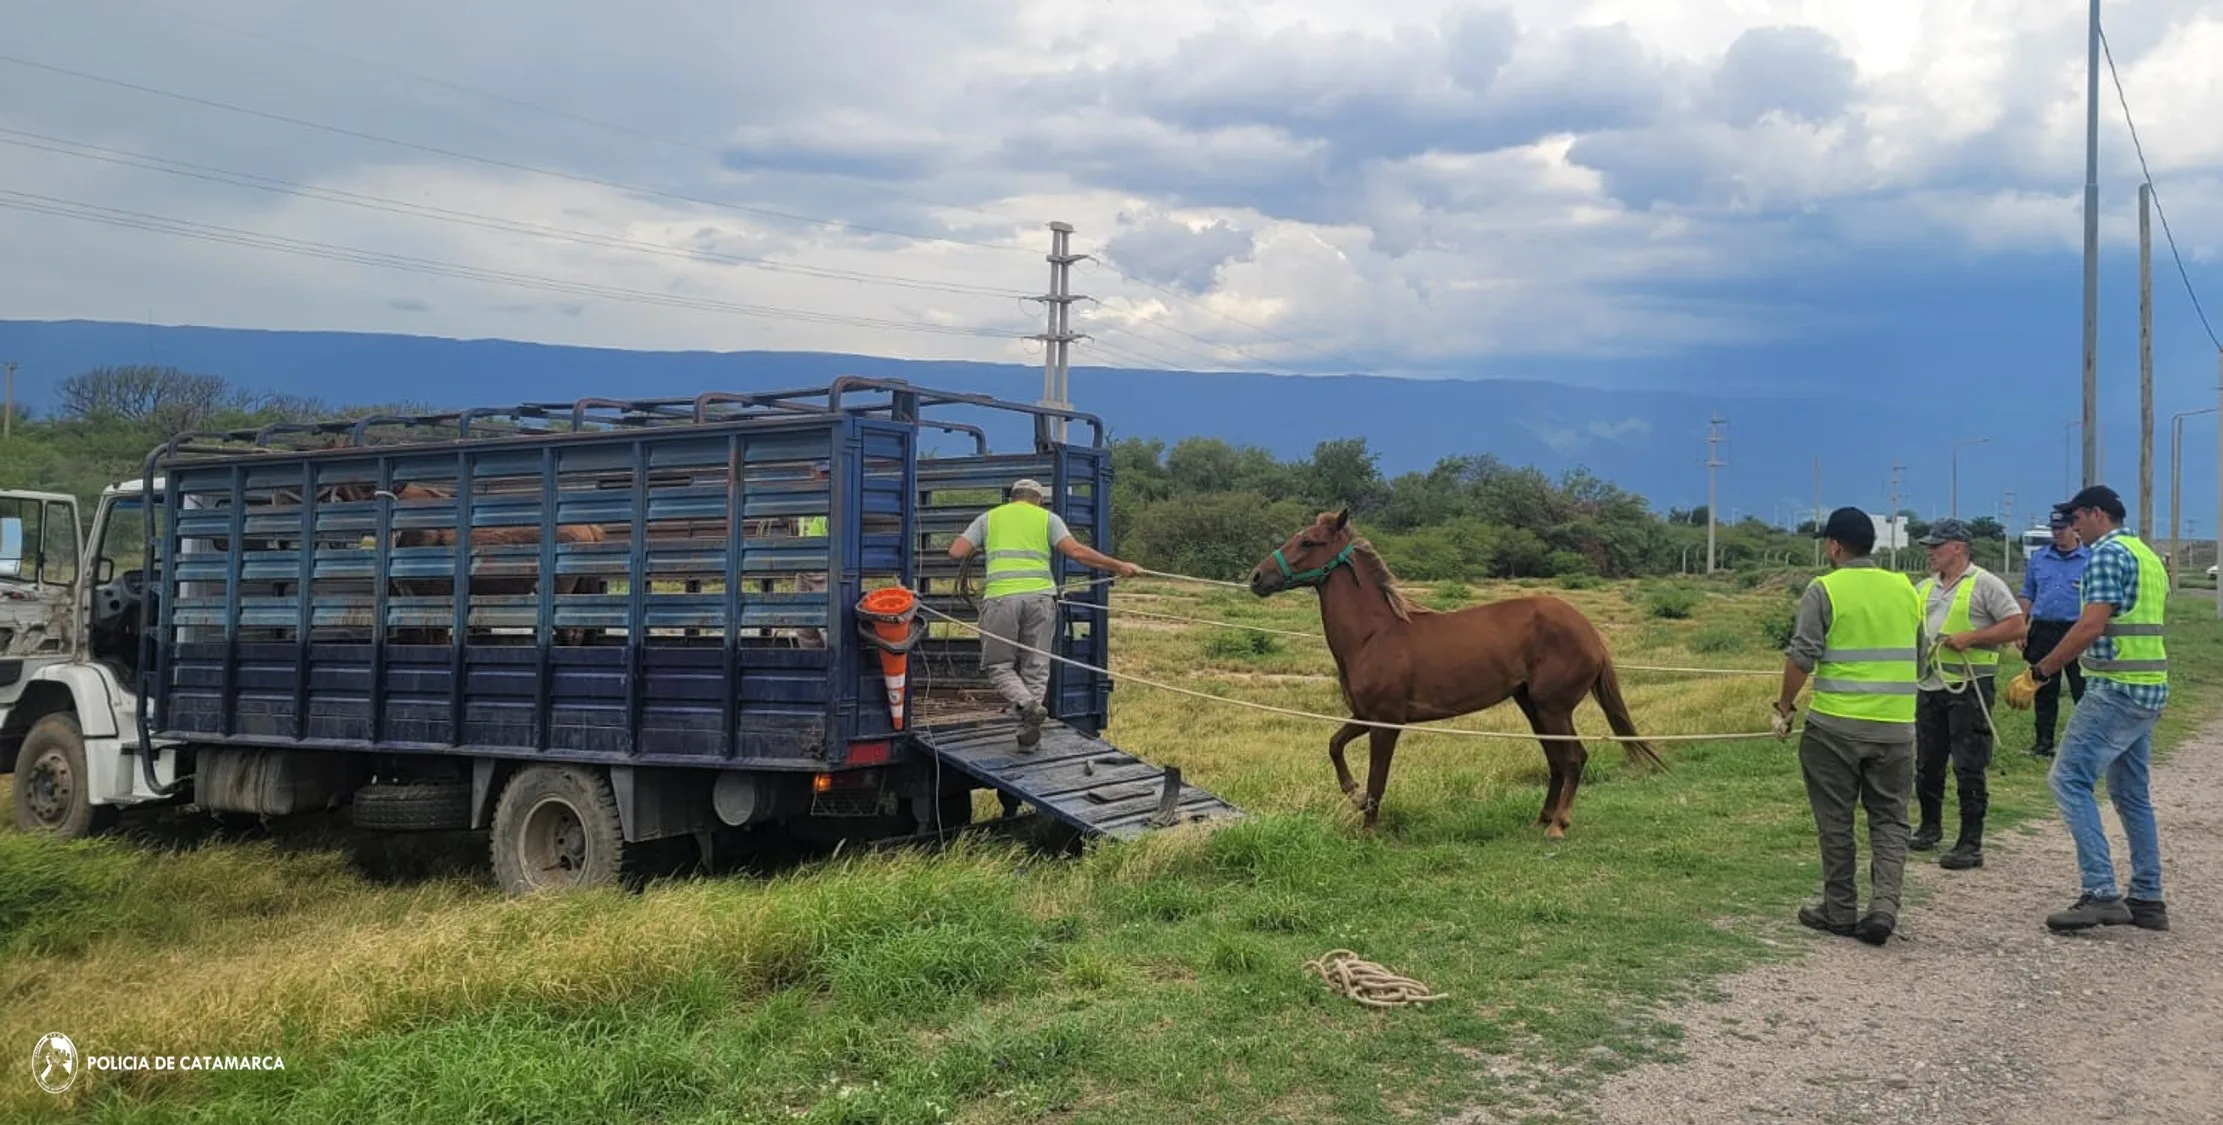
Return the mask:
M618 796L600 771L529 765L494 807L494 878L509 894L618 883L629 854Z

